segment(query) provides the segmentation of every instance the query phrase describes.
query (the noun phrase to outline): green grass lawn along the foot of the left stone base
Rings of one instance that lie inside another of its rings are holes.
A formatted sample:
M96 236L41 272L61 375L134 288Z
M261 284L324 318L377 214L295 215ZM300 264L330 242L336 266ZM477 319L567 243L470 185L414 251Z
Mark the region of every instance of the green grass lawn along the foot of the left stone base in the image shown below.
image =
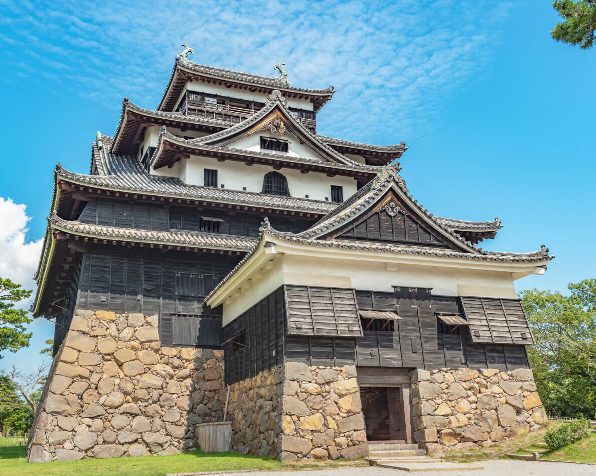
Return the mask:
M144 458L82 459L28 464L25 447L0 439L0 475L18 476L163 476L164 474L238 469L284 469L280 462L240 453L181 453Z

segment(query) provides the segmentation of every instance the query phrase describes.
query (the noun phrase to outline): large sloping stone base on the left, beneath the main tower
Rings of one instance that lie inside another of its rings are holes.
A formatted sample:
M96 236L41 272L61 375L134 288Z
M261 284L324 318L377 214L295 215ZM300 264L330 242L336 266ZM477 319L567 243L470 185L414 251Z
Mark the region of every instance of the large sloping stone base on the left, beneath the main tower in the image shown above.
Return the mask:
M170 455L222 421L223 351L162 347L157 315L77 310L54 359L29 462Z

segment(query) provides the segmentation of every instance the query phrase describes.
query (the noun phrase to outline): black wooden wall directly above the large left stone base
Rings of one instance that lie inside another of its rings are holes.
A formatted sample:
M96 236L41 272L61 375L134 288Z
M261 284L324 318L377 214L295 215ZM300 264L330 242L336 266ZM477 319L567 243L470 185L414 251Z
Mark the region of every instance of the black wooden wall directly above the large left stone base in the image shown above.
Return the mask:
M217 347L221 309L203 299L240 259L98 246L83 253L76 308L157 314L163 345Z

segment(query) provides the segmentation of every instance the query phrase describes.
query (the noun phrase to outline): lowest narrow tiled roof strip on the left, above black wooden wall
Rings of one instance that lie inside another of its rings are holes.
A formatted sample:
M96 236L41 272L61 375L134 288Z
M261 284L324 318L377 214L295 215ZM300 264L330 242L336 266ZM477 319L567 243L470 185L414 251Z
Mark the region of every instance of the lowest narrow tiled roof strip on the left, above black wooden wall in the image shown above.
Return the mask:
M148 231L132 228L106 227L80 221L67 221L55 215L48 218L55 230L79 236L101 237L102 239L156 243L160 245L192 246L193 248L215 248L248 251L257 243L256 238L231 236L220 233L200 233L197 231Z

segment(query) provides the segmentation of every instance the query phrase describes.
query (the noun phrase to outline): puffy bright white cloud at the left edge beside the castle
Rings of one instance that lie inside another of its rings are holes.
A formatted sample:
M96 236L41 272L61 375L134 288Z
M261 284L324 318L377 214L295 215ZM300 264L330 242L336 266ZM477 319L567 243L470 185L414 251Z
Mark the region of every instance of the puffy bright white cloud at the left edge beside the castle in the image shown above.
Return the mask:
M0 276L21 284L24 289L35 290L33 272L43 239L26 241L29 220L25 205L0 197Z

